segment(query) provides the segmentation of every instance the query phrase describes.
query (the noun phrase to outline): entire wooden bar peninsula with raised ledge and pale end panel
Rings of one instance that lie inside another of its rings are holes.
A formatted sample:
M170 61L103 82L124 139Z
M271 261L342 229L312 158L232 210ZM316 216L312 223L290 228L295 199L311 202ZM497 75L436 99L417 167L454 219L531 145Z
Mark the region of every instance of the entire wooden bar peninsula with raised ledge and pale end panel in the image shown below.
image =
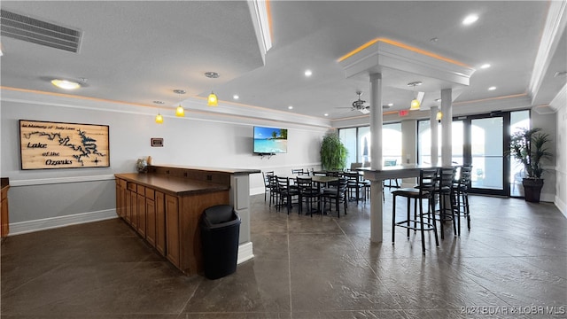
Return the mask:
M116 212L186 275L203 270L198 219L209 206L229 204L240 216L238 262L253 257L250 181L254 169L148 166L116 174Z

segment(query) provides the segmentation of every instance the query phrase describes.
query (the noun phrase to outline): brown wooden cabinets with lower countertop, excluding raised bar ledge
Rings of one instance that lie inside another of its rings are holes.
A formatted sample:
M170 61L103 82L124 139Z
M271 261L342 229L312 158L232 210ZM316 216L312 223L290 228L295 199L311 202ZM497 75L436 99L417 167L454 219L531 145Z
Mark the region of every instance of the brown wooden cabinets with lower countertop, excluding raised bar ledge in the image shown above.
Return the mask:
M117 214L176 268L198 274L203 268L198 219L207 207L229 204L229 185L151 174L116 178Z

